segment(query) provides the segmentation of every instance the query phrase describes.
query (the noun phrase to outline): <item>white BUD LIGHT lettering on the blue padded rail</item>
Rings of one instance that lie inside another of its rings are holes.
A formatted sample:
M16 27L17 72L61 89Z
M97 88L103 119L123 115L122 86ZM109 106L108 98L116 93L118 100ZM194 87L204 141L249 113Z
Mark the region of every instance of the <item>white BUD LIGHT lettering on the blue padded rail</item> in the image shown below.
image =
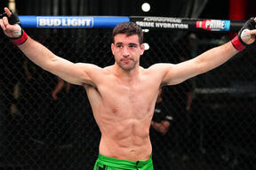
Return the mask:
M38 27L92 27L93 19L86 18L47 18L37 19Z

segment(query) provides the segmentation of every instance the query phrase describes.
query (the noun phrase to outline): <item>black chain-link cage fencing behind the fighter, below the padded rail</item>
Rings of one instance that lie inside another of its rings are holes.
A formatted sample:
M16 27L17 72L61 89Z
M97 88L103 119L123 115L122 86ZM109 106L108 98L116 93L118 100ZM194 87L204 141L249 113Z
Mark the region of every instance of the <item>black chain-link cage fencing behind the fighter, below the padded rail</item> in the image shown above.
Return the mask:
M72 62L109 66L111 29L26 32ZM228 33L150 30L140 65L179 63L228 42ZM29 61L1 32L0 169L92 169L100 130L83 87ZM150 128L156 170L255 169L255 48L163 88L165 135ZM160 121L160 120L159 120Z

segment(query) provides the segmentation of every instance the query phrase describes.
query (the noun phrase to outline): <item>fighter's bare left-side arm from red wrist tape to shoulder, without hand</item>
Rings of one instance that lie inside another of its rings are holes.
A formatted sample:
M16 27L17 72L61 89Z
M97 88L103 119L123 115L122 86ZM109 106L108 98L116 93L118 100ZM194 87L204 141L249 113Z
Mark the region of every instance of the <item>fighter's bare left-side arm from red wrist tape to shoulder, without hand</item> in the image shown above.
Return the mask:
M100 73L102 70L98 66L82 63L72 63L64 58L60 58L48 50L39 42L34 41L28 36L28 40L18 45L20 50L37 66L59 76L64 81L73 84L94 85L92 73Z

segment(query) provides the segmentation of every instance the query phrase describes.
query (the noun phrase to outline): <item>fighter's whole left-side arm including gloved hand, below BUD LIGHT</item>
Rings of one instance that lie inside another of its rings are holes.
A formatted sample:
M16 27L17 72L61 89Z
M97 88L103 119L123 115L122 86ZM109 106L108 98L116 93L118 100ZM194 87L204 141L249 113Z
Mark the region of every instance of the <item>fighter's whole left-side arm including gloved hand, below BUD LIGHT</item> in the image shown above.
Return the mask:
M0 25L14 44L37 66L56 74L61 79L73 84L95 85L92 73L99 74L102 69L90 64L75 64L64 58L60 58L48 50L44 45L30 38L20 27L19 18L8 8L4 8L5 16L0 19ZM11 22L11 24L10 24Z

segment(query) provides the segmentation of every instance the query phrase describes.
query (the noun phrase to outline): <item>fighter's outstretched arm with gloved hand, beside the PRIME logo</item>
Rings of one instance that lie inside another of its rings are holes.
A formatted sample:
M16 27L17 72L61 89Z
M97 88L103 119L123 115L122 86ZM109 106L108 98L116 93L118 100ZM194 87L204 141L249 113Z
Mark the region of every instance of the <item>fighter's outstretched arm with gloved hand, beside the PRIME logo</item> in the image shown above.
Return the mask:
M237 52L244 50L247 46L255 45L255 22L256 19L249 19L238 35L230 42L219 47L205 51L196 58L182 62L177 65L158 64L156 70L163 73L163 85L178 84L198 74L208 72L213 68L222 65Z

